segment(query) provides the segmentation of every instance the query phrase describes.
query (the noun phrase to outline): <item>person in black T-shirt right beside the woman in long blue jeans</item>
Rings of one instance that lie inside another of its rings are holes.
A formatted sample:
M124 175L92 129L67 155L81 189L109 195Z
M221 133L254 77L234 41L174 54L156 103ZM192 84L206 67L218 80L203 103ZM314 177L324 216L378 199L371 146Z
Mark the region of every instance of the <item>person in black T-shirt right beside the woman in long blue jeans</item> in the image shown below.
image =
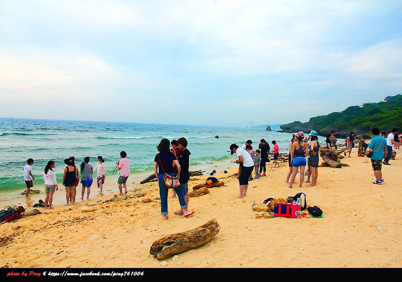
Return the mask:
M177 160L180 164L179 182L181 191L183 192L184 202L186 205L185 210L188 211L188 201L190 200L190 197L188 195L188 180L190 179L189 165L190 165L191 152L187 149L188 142L184 137L179 138L177 140L177 144L180 149L180 154L177 156ZM179 216L183 215L181 210L174 212L174 214Z

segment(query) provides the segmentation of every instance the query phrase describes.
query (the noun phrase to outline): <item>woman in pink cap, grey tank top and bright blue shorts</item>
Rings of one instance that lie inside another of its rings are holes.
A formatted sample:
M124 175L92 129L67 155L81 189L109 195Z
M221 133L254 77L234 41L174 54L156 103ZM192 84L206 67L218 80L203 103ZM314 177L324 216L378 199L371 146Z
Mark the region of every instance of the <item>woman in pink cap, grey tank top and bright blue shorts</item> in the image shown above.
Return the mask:
M305 177L305 167L306 167L306 155L307 151L307 143L303 142L303 138L305 134L302 131L299 131L297 134L297 142L293 143L292 146L292 175L290 177L289 188L292 188L294 179L296 178L297 169L300 167L300 181L299 187L302 187L303 180Z

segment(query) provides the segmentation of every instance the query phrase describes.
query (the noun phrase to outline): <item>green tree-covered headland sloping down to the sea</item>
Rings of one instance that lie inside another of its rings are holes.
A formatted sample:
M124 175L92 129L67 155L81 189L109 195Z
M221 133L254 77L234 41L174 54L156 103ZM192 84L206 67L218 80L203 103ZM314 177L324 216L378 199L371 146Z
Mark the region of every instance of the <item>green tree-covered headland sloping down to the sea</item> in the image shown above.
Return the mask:
M293 122L280 126L284 132L316 130L325 136L335 130L338 136L348 136L353 131L363 137L370 137L373 127L387 133L393 127L402 130L402 95L388 96L379 103L351 106L342 112L311 118L307 123Z

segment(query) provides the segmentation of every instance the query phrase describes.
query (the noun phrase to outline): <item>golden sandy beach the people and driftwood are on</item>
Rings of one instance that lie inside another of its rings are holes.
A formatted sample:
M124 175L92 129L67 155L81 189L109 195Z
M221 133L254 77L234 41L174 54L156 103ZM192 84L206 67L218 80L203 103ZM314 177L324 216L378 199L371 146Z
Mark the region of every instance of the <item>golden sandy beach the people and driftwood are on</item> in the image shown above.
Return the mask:
M189 218L174 215L179 209L178 200L169 198L169 219L162 220L157 182L140 184L141 179L134 178L129 181L127 195L118 196L117 185L110 179L104 188L107 195L97 195L95 184L90 201L79 200L71 206L60 203L65 193L58 191L53 210L27 207L23 198L2 202L2 208L22 205L27 211L39 209L41 214L1 226L0 266L401 267L402 214L398 199L402 194L402 151L396 152L391 165L382 166L385 182L381 185L372 184L370 160L357 157L357 148L351 158L342 159L350 166L320 167L318 185L314 187L303 183L299 188L296 182L289 189L285 185L287 163L274 168L270 162L267 176L252 180L247 197L242 199L235 198L239 194L234 175L237 168L212 167L210 170L217 170L214 176L225 185L190 198L189 210L195 214ZM229 173L224 173L225 169ZM209 172L191 177L189 191L204 183ZM323 218L255 218L260 213L252 210L253 203L262 204L270 197L286 199L298 192L306 193L308 206L323 210ZM31 204L38 199L44 200L44 195L31 196ZM84 206L94 211L83 212ZM214 218L220 232L202 247L165 259L166 266L149 253L155 240Z

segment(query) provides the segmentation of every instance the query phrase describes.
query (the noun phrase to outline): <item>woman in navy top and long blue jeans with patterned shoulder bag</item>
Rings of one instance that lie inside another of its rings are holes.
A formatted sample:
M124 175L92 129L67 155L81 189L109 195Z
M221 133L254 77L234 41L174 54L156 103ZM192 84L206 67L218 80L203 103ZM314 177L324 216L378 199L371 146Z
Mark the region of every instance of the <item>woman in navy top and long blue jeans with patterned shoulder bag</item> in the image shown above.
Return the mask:
M164 172L169 174L170 176L174 176L176 174L173 168L174 163L177 167L177 176L180 176L180 164L177 161L176 156L170 151L169 148L170 148L170 141L166 138L162 139L159 145L157 146L159 153L155 156L154 159L154 172L155 176L159 180L158 182L159 196L161 204L161 215L163 219L168 219L167 198L169 193L169 189L165 186L165 182L163 180ZM180 186L176 187L174 191L177 194L177 198L180 203L180 209L184 217L188 217L194 214L194 212L186 211L187 206L184 201L184 196L181 187Z

